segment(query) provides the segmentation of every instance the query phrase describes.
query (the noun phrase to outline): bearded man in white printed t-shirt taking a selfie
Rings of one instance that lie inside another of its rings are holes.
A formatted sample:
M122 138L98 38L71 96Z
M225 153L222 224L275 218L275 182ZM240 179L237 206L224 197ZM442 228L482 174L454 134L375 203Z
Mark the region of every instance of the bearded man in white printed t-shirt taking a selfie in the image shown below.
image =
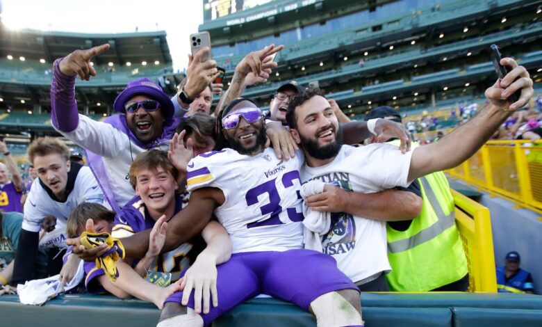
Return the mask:
M511 58L502 59L502 65L509 66L511 72L486 90L490 102L486 108L438 143L417 147L405 154L397 151L397 147L381 143L365 147L342 145L337 118L319 90L306 90L290 102L286 120L305 154L305 164L300 171L302 182L320 180L353 191L346 193L338 206L330 206L325 196L320 203L312 205L329 207L328 212L340 212L331 216L322 248L336 259L339 269L358 287L384 279L383 273L391 267L386 253L385 222L375 220L378 217L369 212L368 202L356 200L356 196L395 186L406 187L418 177L457 166L474 154L495 129L533 95L532 79L524 67ZM520 99L509 102L509 95L517 90L520 90Z

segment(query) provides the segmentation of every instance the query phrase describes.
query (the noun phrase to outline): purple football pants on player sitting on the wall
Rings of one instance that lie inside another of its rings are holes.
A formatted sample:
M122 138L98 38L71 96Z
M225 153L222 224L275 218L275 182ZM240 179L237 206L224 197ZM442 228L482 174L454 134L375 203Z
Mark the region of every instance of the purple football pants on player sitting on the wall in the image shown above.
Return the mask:
M236 253L224 264L217 266L218 307L211 304L208 314L201 314L204 324L258 294L268 294L309 310L311 302L323 294L355 289L337 263L329 255L313 250L285 252ZM181 303L183 292L176 292L167 302ZM188 306L194 308L194 292Z

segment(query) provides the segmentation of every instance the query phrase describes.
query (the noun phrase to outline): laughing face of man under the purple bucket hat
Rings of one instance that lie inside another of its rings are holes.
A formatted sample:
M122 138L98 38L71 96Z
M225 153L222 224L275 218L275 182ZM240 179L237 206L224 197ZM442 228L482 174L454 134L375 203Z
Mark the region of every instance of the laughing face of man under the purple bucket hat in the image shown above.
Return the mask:
M135 97L131 97L126 104L149 99L151 98L145 95L136 95ZM128 125L133 135L139 141L142 143L151 143L163 133L164 116L162 109L145 111L142 106L139 106L138 110L133 113L126 112L126 125Z

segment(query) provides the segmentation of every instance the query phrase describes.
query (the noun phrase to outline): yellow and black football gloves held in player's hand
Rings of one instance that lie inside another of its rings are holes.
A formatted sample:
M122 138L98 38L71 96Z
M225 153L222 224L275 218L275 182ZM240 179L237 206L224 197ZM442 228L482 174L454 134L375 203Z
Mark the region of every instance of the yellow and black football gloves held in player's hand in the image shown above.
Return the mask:
M124 259L124 246L122 246L122 243L108 233L83 232L81 234L81 244L88 249L107 244L108 250L106 253L96 258L96 268L104 269L106 276L114 282L119 276L115 261Z

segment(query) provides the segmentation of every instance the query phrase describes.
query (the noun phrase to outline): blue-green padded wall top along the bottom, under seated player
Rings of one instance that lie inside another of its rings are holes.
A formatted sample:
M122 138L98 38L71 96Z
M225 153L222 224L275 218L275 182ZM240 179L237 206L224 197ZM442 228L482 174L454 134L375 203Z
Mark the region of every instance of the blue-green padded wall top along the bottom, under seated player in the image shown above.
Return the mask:
M363 293L366 326L542 326L542 296L530 294ZM58 296L42 307L0 297L1 326L155 326L151 303L108 295ZM316 326L308 312L274 298L239 305L213 327Z

